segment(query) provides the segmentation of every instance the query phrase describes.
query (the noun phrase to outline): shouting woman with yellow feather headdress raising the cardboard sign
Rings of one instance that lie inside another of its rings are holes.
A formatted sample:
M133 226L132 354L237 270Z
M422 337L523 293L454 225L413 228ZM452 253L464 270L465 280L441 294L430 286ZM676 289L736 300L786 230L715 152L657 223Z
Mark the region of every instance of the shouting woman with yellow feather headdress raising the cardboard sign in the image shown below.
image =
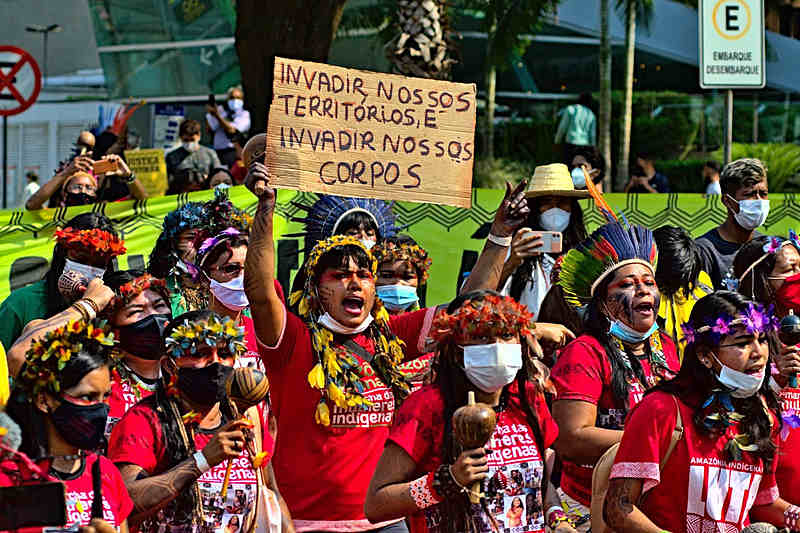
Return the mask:
M435 309L390 316L375 296L377 265L349 235L320 241L308 254L301 291L288 312L275 291L269 173L253 163L248 187L259 203L250 232L245 288L278 420L275 473L299 531L404 530L397 518L379 524L364 499L389 434L395 406L409 392L397 366L424 353ZM506 239L524 220L523 182L497 211L468 284L496 286Z

